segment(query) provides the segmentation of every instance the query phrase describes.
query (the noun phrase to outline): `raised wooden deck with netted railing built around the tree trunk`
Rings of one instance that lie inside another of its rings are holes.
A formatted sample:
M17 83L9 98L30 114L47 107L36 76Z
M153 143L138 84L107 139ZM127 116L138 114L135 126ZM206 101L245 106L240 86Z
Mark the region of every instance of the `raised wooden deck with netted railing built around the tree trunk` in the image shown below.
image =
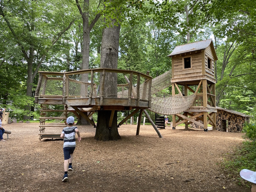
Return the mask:
M106 95L104 82L109 73L116 73L117 82L113 94ZM81 74L88 76L88 82L79 80ZM151 106L151 83L151 76L120 69L97 68L65 73L40 71L35 102L92 108L92 111L146 109Z

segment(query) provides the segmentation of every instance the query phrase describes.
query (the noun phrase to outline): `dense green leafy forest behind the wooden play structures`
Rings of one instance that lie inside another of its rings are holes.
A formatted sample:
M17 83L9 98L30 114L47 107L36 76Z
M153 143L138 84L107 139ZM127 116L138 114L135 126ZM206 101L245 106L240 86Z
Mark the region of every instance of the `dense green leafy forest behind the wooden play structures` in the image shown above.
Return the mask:
M38 71L99 68L102 31L113 20L117 68L153 78L171 69L166 56L175 46L212 38L217 106L256 116L256 5L249 0L0 0L0 106L11 117L38 118Z

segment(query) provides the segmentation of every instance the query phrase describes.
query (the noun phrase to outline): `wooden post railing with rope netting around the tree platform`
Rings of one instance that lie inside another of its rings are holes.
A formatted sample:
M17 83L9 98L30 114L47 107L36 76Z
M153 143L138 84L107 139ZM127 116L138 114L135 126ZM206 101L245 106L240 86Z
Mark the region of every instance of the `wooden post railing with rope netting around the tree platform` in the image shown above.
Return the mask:
M118 93L114 91L111 98L118 98L121 95L122 98L128 99L128 106L131 104L132 99L137 99L137 106L139 106L140 100L148 100L148 107L151 107L151 76L137 71L110 68L94 68L70 72L39 71L35 102L38 103L38 98L62 97L62 103L65 104L66 99L79 97L89 98L89 103L91 103L93 97L100 97L100 104L102 105L104 97L109 97L109 95L104 94L107 73L116 73L116 78L117 76L118 78L115 85L122 89ZM82 74L86 74L89 79L88 82L78 79ZM129 78L126 76L129 76Z

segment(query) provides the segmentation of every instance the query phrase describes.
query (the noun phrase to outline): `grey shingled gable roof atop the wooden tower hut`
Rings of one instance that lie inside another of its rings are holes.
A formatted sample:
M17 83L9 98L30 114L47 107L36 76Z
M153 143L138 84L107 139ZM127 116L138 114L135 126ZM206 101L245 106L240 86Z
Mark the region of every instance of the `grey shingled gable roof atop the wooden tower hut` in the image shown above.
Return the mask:
M203 50L203 49L206 49L209 45L211 46L214 60L218 60L213 43L212 43L212 39L178 45L174 48L174 50L172 51L171 54L167 55L167 57L170 57L173 55L179 55L179 54L186 53L186 52Z

